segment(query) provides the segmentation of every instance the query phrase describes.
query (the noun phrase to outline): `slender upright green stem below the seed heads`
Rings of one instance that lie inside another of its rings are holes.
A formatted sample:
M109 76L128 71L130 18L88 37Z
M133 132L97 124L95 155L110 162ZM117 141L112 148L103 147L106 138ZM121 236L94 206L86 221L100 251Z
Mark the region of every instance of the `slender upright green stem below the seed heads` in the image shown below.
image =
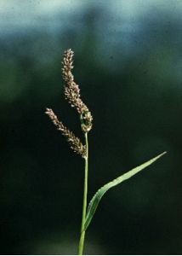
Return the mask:
M86 217L86 210L87 210L87 195L88 195L88 133L84 134L85 136L85 143L86 143L86 156L85 156L85 177L84 177L84 189L83 189L83 202L82 202L82 225L81 225L81 232L80 232L80 241L78 245L78 255L82 255L83 247L84 247L84 239L85 239L85 217Z

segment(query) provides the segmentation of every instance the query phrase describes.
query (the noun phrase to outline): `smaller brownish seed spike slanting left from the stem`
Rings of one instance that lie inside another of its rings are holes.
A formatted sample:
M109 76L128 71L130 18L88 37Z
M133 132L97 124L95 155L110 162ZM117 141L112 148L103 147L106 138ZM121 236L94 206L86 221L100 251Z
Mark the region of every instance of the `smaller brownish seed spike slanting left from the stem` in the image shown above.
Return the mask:
M57 129L61 131L62 135L66 137L68 143L71 145L71 149L84 158L86 155L86 147L82 145L80 139L76 137L72 131L68 130L62 122L60 122L52 109L46 108L45 113L48 114L48 117L52 120Z

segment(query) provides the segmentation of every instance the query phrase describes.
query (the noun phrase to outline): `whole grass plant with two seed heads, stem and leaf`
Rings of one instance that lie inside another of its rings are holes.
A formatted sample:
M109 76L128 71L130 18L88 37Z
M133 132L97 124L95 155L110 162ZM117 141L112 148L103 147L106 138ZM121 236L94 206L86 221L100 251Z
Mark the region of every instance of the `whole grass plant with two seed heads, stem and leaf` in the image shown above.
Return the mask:
M117 186L119 183L122 183L124 180L133 177L134 174L145 169L145 167L150 166L153 162L162 157L163 154L166 154L166 152L158 154L156 157L146 161L141 166L137 166L134 169L130 170L129 172L122 174L122 176L112 180L110 183L106 183L95 193L95 195L88 204L88 132L92 129L93 117L87 105L84 102L82 102L79 86L75 83L74 76L71 73L71 70L73 68L73 55L74 53L71 49L65 50L62 61L62 73L63 79L65 81L65 99L71 104L72 108L75 108L77 110L77 113L80 118L81 129L84 135L84 143L82 143L81 139L76 137L75 134L72 131L70 131L57 118L57 116L54 114L54 111L51 108L47 108L45 113L48 114L48 117L53 121L54 125L63 134L63 136L66 137L71 149L73 149L73 151L76 154L79 154L84 160L85 176L83 183L82 224L80 230L80 240L77 249L78 255L82 255L85 240L85 232L88 229L88 225L94 217L94 212L96 211L100 203L100 199L103 195L105 195L105 192L111 189L112 187Z

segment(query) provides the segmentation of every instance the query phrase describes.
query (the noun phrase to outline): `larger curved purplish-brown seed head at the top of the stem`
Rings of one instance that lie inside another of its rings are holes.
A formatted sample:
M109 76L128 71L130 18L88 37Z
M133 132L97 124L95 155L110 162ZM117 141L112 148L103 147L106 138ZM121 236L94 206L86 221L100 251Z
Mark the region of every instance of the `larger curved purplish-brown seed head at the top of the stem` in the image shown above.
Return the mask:
M74 76L71 73L73 68L73 55L71 49L65 50L63 58L63 79L65 80L65 99L71 104L71 107L76 108L82 122L82 131L88 132L92 129L93 117L88 110L88 107L82 102L80 89L74 81Z

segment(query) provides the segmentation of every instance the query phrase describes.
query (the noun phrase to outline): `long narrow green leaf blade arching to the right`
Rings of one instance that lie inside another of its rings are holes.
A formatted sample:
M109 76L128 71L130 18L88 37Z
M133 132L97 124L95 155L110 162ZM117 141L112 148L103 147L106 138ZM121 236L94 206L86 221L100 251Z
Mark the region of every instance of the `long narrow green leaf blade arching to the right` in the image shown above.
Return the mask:
M101 187L96 192L96 194L93 196L92 200L89 202L88 212L87 212L87 216L86 216L85 224L84 224L85 230L87 230L88 225L90 224L90 222L91 222L91 220L94 216L94 212L96 211L96 209L97 209L97 207L100 203L100 199L102 198L103 195L105 195L105 192L108 189L111 189L112 187L117 186L119 183L122 183L124 180L134 176L134 174L136 174L136 173L140 172L141 170L145 169L145 167L150 166L153 162L155 162L157 159L162 157L163 154L166 154L166 153L167 152L163 152L162 154L157 155L156 157L154 157L151 160L148 160L147 162L145 162L141 166L135 167L131 171L122 174L122 176L117 177L116 179L112 180L110 183L106 183L105 186Z

